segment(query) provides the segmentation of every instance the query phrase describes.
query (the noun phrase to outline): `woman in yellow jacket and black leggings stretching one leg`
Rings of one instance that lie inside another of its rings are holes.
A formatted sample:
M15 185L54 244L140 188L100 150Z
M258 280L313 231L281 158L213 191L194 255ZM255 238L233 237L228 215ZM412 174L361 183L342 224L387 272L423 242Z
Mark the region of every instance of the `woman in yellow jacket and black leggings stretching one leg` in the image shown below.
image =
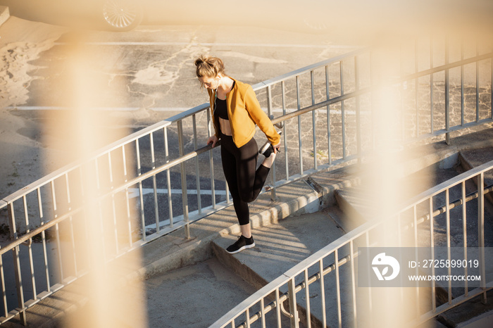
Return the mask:
M226 251L234 254L255 246L251 236L248 203L254 201L266 182L275 154L280 148L280 135L262 111L254 89L225 74L220 58L201 56L195 61L201 87L206 87L216 133L207 144L221 140L221 158L227 185L233 198L242 235ZM255 125L266 134L270 146L263 152L266 159L256 170L258 146Z

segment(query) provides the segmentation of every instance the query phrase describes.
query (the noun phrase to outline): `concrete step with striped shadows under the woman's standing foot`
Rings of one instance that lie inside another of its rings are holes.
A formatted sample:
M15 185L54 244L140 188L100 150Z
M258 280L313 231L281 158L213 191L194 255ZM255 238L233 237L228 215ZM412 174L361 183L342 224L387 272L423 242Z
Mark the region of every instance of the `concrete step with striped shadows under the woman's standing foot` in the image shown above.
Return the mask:
M233 244L237 237L224 236L213 242L213 252L233 272L256 288L261 288L301 260L343 236L344 230L330 216L318 212L289 217L276 225L254 229L252 234L256 244L254 248L230 255L225 248ZM342 284L345 284L344 278ZM335 289L335 284L332 289ZM335 291L329 293L335 295ZM311 304L321 304L318 284L310 285L310 299ZM335 302L332 302L335 301L333 297L327 300L327 308L337 308ZM304 294L299 295L297 301L299 307L306 308ZM301 322L306 322L303 310L300 310ZM311 308L311 314L312 322L320 323L322 309Z

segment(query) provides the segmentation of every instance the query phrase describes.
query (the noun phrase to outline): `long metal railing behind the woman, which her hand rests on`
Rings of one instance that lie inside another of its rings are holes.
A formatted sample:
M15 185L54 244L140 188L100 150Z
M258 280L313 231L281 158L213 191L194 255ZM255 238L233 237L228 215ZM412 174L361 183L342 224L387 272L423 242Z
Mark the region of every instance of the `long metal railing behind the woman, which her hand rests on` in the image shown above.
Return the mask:
M432 58L437 51L433 48L430 46ZM275 116L273 122L285 122L283 151L269 182L273 198L276 187L354 163L373 148L371 94L378 81L373 76L372 56L369 50L354 51L253 86L261 106ZM448 73L470 63L493 66L489 64L492 52L461 57L437 66L431 61L425 70L416 65L412 75L406 72L406 61L402 62L402 75L395 77L393 84L416 97L414 111L408 111L407 102L402 101L403 140L430 140L442 134L448 140L451 132L493 122L491 101L482 103L492 97L491 84L480 83L478 75L475 86L470 87L462 74L460 88L451 87ZM493 69L489 70L493 75ZM442 74L446 76L440 80L437 75ZM420 79L428 80L418 82ZM413 80L415 92L409 83ZM423 84L430 90L428 101L420 94ZM461 111L456 111L453 94L458 92L465 99L471 88L477 95L474 113L464 101ZM444 94L443 101L433 98L437 93ZM437 103L444 103L444 108L437 108ZM428 118L425 122L421 122L423 115ZM409 127L409 122L416 122L416 127ZM192 222L230 206L218 151L199 146L210 135L210 112L208 104L203 104L135 132L92 158L57 170L1 200L0 217L8 220L11 244L0 248L4 287L0 323L18 313L25 322L27 308L89 269L87 261L77 258L75 249L81 241L73 237L75 227L87 229L82 218L85 203L80 201L86 184L96 185L96 205L111 208L109 213L100 211L98 227L113 232L113 240L104 244L108 261L177 229L183 228L188 238ZM92 181L82 178L86 172L92 173ZM2 265L6 258L14 263L12 268ZM37 258L42 260L35 265ZM16 296L6 291L11 287L8 280L15 281Z

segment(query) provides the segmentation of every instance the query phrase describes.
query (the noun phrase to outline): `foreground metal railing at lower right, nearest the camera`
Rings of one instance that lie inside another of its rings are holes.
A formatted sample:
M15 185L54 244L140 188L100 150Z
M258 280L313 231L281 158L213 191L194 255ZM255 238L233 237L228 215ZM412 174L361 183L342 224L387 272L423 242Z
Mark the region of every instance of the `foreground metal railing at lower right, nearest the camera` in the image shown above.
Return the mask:
M430 282L428 286L403 285L397 292L400 299L398 297L393 300L405 308L402 313L406 317L400 317L399 319L402 320L400 323L405 327L417 327L476 296L481 296L482 302L485 303L486 292L493 289L493 277L491 274L489 277L486 274L487 262L484 252L485 246L493 246L491 238L488 244L485 244L485 194L493 191L493 185L483 187L487 171L489 174L492 173L493 161L423 192L388 220L368 221L357 227L256 291L211 327L251 327L254 322L256 322L255 327L300 327L300 324L301 327L311 327L312 324L316 327L381 327L379 320L382 318L372 317L372 307L378 303L377 298L381 297L379 287L371 287L371 284L360 287L357 284L359 270L355 269L355 262L361 253L358 252L358 248L378 246L385 246L387 250L389 246L416 248L423 246L418 242L418 239L423 238L428 239L428 247L431 249L439 246L447 249L454 246L463 247L463 253L459 254L463 256L462 258L452 258L450 251L447 256L442 256L442 260L449 262L453 259L468 260L468 247L480 249L478 254L480 286L470 288L467 281L463 282L461 287L452 287L450 281L442 286L435 281ZM466 194L466 184L469 189L471 182L479 187L476 191ZM449 200L451 194L458 196L457 201ZM477 201L477 204L471 206L470 201ZM433 208L437 203L444 203L444 206ZM455 214L451 213L453 208L458 209ZM471 214L471 209L477 212ZM451 232L451 221L455 221L456 225L461 227L461 235L458 235L457 229L454 229L454 233ZM478 234L478 239L474 239L473 243L468 240L470 225L474 225ZM375 233L384 226L387 233L397 236L397 244L389 245ZM446 232L444 242L435 240L435 229ZM408 232L411 232L411 236L408 236ZM454 241L451 241L452 236ZM433 251L431 256L431 259L439 258ZM468 274L467 265L462 270L465 275ZM431 275L435 275L433 268ZM392 287L387 288L392 289ZM403 292L401 289L406 291ZM439 291L444 291L442 303L437 301ZM347 297L344 298L343 294ZM388 310L387 308L387 312Z

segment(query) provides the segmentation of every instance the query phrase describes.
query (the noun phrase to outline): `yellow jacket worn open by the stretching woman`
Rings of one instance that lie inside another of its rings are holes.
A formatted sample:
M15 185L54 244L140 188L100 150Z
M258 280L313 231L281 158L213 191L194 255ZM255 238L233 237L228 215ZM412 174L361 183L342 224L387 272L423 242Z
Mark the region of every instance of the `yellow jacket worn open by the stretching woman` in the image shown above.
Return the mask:
M233 79L234 80L234 79ZM211 115L216 137L220 139L219 122L214 118L214 103L216 101L216 91L207 89L209 94L209 103L211 104ZM262 111L258 103L254 89L251 85L235 80L235 85L226 96L227 117L230 119L233 142L239 148L244 146L255 134L255 125L266 134L270 144L277 146L280 144L281 137L275 131L275 127L268 118L267 114Z

